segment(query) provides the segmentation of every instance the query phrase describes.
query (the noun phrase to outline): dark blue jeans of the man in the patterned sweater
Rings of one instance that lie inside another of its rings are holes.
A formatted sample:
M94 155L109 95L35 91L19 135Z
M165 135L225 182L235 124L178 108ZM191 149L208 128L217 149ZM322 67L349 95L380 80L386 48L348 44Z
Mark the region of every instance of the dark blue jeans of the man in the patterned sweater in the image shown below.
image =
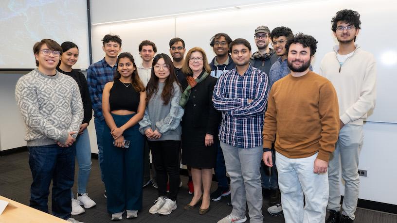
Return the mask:
M29 206L48 213L47 203L52 180L53 215L62 219L70 218L75 150L72 147L62 148L57 144L30 146L28 150L33 177Z

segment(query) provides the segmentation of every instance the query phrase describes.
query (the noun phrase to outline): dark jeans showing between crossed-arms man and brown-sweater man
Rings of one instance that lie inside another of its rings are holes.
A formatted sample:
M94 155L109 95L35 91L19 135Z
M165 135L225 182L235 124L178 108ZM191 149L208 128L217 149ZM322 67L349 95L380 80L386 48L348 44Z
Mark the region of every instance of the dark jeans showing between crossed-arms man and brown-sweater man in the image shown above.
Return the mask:
M261 161L261 182L262 188L276 190L278 189L278 177L277 177L277 167L275 163L275 152L271 150L271 159L273 160L273 166L266 166L263 161Z

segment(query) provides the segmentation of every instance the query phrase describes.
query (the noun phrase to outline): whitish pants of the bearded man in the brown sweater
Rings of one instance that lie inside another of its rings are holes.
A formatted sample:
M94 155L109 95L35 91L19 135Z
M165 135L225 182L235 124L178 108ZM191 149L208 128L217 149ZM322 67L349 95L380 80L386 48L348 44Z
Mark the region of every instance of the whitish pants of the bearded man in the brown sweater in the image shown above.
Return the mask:
M278 186L286 223L325 222L328 175L313 173L317 154L307 158L289 159L276 152Z

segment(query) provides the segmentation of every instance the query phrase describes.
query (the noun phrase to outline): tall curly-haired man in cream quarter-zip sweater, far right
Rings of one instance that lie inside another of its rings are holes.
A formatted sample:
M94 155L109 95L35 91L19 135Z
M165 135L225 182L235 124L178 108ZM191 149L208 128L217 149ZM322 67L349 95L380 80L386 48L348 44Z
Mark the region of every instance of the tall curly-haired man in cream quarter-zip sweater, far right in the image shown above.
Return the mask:
M360 14L341 10L332 18L332 31L339 42L325 55L320 74L335 87L339 100L340 132L335 152L328 163L329 217L327 223L351 223L359 198L359 155L363 141L362 125L376 98L376 62L374 56L355 44L360 32ZM341 163L340 163L341 162ZM344 197L341 216L339 167L342 164Z

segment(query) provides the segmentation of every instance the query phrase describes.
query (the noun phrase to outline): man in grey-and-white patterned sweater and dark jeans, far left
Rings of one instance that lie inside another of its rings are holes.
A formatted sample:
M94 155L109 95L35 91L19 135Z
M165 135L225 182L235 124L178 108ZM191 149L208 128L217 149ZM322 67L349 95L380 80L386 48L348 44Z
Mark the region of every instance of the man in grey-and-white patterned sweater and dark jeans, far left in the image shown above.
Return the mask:
M83 104L76 81L55 70L62 48L54 40L43 39L33 51L38 67L21 77L15 89L26 124L33 177L30 207L48 212L53 180L52 212L71 221L75 156L72 144L83 120Z

